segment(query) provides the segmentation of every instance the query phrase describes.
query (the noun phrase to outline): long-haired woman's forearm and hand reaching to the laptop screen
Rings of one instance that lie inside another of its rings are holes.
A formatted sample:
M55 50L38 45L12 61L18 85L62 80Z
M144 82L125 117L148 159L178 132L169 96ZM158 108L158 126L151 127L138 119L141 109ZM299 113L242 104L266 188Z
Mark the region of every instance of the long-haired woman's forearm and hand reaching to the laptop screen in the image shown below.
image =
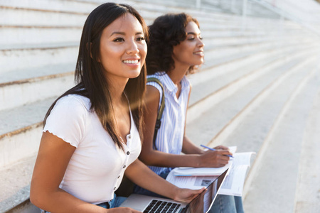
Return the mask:
M128 166L124 174L129 180L144 187L146 190L169 197L176 201L190 202L196 195L204 190L204 188L201 190L188 190L176 187L164 180L164 178L156 175L156 173L138 159Z

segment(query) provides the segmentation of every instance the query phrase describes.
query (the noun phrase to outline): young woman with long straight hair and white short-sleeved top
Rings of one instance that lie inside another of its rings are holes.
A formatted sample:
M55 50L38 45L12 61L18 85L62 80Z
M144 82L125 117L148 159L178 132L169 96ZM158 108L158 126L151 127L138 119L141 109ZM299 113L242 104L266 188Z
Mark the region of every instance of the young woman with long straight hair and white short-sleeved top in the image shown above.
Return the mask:
M60 96L43 122L31 181L31 202L48 212L137 212L119 207L114 191L124 175L178 201L186 190L159 178L141 151L146 84L143 18L131 6L106 3L85 22L75 69L76 86Z

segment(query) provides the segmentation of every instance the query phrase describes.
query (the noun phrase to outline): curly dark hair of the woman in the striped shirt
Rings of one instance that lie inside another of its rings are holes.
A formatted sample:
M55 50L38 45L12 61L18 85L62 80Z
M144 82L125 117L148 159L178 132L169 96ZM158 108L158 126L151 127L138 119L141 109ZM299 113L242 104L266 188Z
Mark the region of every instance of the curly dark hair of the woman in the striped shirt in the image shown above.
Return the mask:
M174 58L172 58L174 46L186 39L186 26L190 21L200 28L196 18L186 13L168 13L159 16L149 26L148 54L146 55L148 75L174 70ZM189 67L188 73L192 73L193 70L195 66Z

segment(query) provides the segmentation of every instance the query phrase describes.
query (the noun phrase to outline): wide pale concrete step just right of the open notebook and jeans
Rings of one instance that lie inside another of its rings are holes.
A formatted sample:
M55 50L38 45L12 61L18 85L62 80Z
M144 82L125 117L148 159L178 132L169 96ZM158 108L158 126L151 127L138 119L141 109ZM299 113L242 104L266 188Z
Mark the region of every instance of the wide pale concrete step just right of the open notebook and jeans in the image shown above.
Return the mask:
M249 212L294 212L304 128L320 83L319 65L308 68L304 69L308 74L299 84L290 85L294 92L257 153L246 182L245 209Z

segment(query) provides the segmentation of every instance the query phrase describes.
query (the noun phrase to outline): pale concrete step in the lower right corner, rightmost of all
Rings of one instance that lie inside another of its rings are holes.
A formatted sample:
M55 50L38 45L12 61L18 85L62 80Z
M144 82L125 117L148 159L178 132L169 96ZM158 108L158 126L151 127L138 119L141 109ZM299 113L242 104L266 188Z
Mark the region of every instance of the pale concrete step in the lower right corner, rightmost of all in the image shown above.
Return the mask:
M319 72L319 70L318 70ZM320 90L314 98L312 109L304 127L299 160L295 213L318 212L320 209Z

